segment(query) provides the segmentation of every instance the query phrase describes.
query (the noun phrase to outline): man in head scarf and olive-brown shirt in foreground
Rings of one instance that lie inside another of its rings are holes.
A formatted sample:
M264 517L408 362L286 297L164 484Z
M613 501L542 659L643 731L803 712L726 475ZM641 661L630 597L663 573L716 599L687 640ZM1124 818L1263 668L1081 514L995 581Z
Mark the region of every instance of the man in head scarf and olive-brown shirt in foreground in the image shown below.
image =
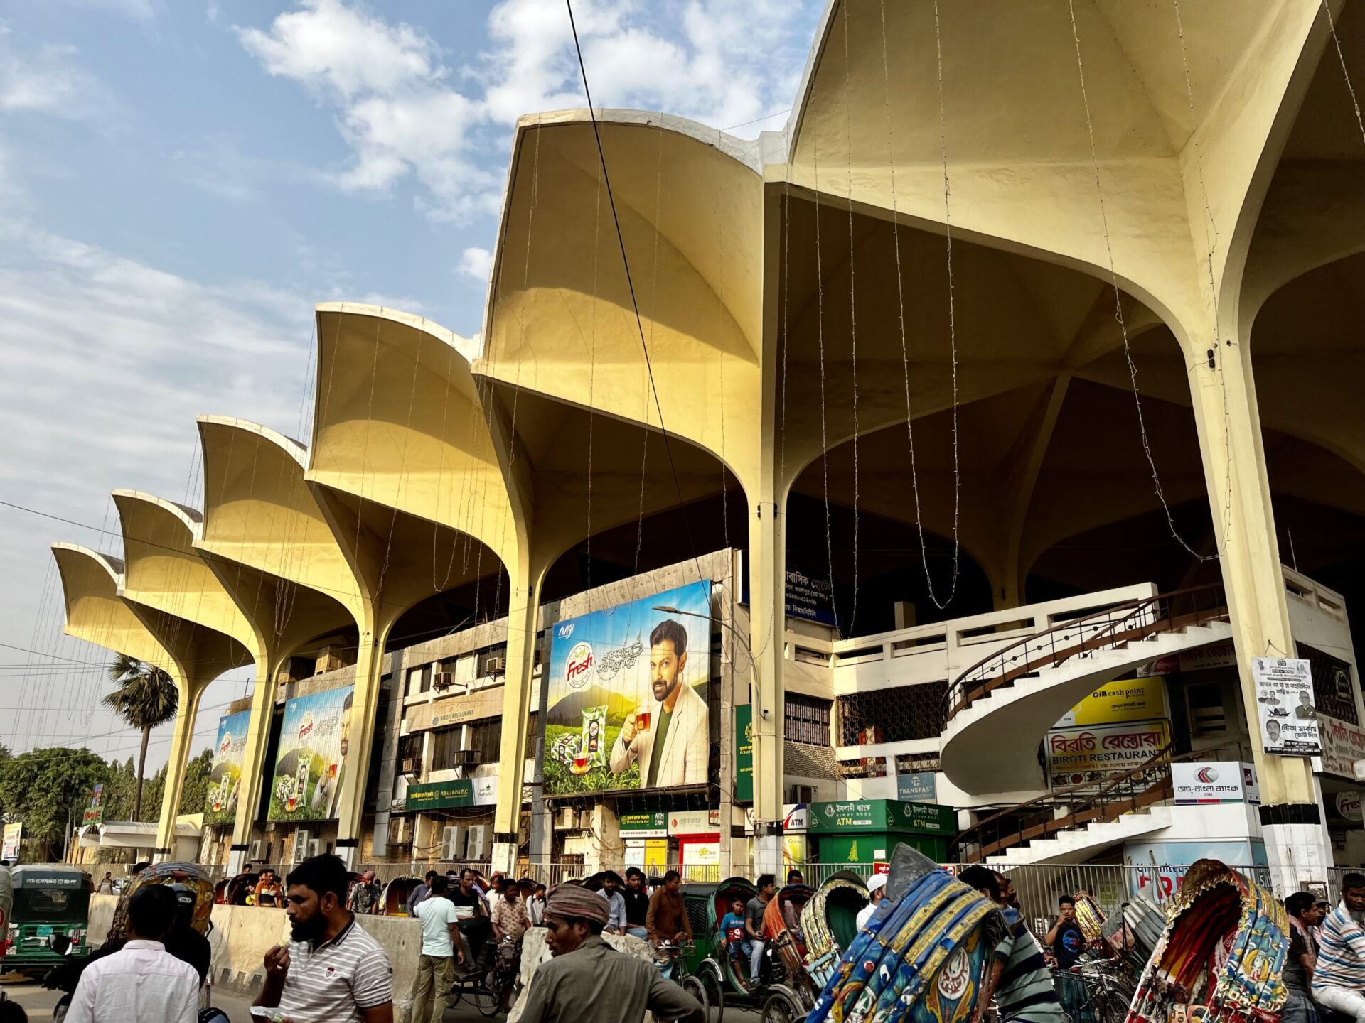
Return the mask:
M521 1023L639 1023L646 1012L704 1023L700 1003L663 979L657 966L621 955L602 940L609 910L587 888L550 889L545 923L554 959L531 975Z

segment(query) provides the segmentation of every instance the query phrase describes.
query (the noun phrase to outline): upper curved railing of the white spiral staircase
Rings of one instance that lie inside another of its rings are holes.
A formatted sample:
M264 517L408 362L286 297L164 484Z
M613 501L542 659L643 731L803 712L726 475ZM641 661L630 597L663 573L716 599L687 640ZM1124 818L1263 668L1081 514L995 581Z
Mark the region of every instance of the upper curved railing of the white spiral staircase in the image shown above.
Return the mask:
M1226 621L1227 597L1222 582L1127 600L1073 618L1018 640L958 675L943 694L943 720L953 720L973 700L1017 678L1036 675L1041 668L1057 667L1072 657L1118 649L1158 633L1182 632L1192 625Z

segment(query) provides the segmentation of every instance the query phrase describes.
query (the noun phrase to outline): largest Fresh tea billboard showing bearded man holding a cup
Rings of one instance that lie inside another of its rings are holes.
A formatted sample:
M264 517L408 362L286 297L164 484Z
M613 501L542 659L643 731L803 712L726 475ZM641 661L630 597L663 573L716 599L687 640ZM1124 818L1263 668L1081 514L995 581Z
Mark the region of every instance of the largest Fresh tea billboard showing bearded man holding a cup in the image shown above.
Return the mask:
M706 784L710 617L706 581L554 626L546 794Z

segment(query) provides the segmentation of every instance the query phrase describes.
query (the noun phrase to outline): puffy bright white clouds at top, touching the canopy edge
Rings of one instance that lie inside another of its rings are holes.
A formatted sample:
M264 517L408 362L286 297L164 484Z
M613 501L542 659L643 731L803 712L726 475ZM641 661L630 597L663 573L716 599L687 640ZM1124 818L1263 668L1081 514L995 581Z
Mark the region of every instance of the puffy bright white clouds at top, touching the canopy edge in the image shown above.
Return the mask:
M580 0L573 10L599 106L722 128L790 106L809 45L800 3ZM517 116L584 105L560 0L501 0L489 14L491 46L459 68L422 29L345 0L300 0L268 29L236 31L269 74L336 108L351 149L332 172L337 187L388 194L415 179L416 207L437 221L497 213Z

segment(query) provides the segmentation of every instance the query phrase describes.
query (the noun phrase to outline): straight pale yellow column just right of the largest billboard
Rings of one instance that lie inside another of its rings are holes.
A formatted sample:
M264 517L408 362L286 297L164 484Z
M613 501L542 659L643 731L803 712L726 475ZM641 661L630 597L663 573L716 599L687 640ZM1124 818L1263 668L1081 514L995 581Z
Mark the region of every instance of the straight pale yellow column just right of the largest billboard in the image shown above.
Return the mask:
M786 513L760 501L749 513L749 651L753 655L753 869L782 866L782 648L786 640ZM722 771L733 771L722 765Z

